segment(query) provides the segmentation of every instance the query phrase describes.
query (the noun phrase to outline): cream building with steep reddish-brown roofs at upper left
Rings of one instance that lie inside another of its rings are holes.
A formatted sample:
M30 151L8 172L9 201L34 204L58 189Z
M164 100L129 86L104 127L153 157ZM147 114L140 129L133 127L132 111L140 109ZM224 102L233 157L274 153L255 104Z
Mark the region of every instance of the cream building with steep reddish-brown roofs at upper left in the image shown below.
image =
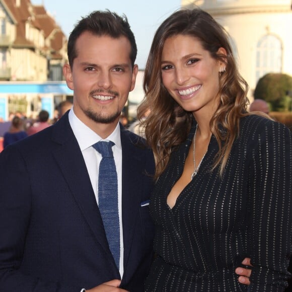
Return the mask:
M0 0L0 80L60 81L67 40L43 6Z

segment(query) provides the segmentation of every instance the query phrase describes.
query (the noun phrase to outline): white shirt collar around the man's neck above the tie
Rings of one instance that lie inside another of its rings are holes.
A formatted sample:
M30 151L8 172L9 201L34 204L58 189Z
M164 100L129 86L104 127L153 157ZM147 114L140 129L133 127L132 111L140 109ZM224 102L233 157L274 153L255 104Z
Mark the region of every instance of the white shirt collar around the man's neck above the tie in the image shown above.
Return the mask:
M100 140L113 141L119 149L122 149L119 123L117 123L117 126L113 132L106 139L102 139L100 135L98 135L90 127L83 123L76 116L73 108L71 108L69 111L69 123L78 141L81 151L86 150Z

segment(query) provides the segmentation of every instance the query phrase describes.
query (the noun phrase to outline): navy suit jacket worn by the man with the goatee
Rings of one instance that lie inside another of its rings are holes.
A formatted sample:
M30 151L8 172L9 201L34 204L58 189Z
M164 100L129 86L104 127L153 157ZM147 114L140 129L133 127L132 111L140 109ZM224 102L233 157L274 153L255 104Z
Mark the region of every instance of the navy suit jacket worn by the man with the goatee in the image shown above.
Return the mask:
M124 274L142 291L152 261L153 153L121 127ZM120 278L65 114L0 154L0 291L80 292Z

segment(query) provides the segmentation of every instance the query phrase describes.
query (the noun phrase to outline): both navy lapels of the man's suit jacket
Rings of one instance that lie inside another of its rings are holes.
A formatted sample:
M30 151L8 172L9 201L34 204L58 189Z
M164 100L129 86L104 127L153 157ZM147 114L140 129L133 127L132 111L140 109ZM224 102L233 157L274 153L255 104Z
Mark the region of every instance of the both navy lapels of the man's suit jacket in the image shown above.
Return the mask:
M102 218L95 199L88 171L76 137L70 127L66 113L54 125L52 140L56 143L53 156L56 159L71 195L74 197L87 224L93 231L97 244L107 254L112 266L117 270L108 248ZM141 186L144 165L141 152L131 141L127 130L121 126L122 144L122 224L124 243L124 269L127 268L141 201Z

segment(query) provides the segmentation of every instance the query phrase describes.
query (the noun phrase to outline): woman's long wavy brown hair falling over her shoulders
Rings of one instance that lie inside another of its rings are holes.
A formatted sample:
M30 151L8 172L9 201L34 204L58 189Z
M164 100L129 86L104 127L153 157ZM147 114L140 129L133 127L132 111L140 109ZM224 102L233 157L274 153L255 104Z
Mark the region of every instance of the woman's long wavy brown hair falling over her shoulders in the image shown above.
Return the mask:
M163 46L166 39L175 35L197 38L212 58L226 66L225 72L218 72L220 102L210 120L210 130L219 145L213 169L220 165L222 175L232 144L239 134L240 117L248 115L248 85L239 74L225 29L208 13L196 8L177 11L161 24L154 36L145 67L145 97L138 107L137 115L141 118L150 109L143 124L145 136L155 155L156 178L166 168L172 151L186 139L192 124L192 113L179 106L162 83ZM220 47L226 50L227 55L217 53Z

